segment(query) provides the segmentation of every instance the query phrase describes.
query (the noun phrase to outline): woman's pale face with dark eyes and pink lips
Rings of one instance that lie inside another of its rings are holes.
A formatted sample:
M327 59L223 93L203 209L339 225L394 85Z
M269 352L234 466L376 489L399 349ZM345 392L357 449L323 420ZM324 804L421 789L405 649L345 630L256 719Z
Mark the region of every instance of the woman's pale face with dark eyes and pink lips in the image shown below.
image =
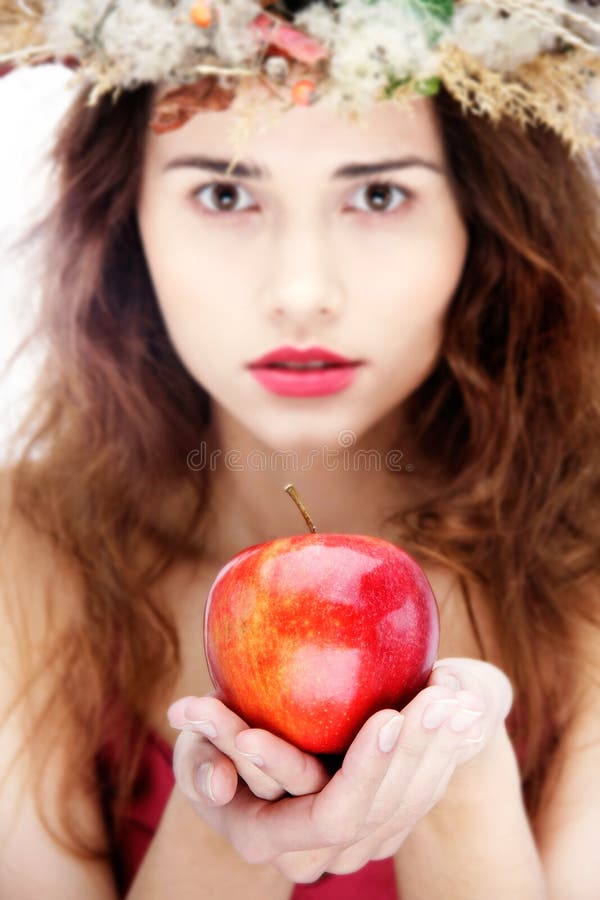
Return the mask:
M229 177L234 115L148 133L138 216L170 338L217 423L271 448L360 440L434 368L465 261L434 106L379 103L366 128L295 107L253 133ZM360 365L249 368L282 346Z

